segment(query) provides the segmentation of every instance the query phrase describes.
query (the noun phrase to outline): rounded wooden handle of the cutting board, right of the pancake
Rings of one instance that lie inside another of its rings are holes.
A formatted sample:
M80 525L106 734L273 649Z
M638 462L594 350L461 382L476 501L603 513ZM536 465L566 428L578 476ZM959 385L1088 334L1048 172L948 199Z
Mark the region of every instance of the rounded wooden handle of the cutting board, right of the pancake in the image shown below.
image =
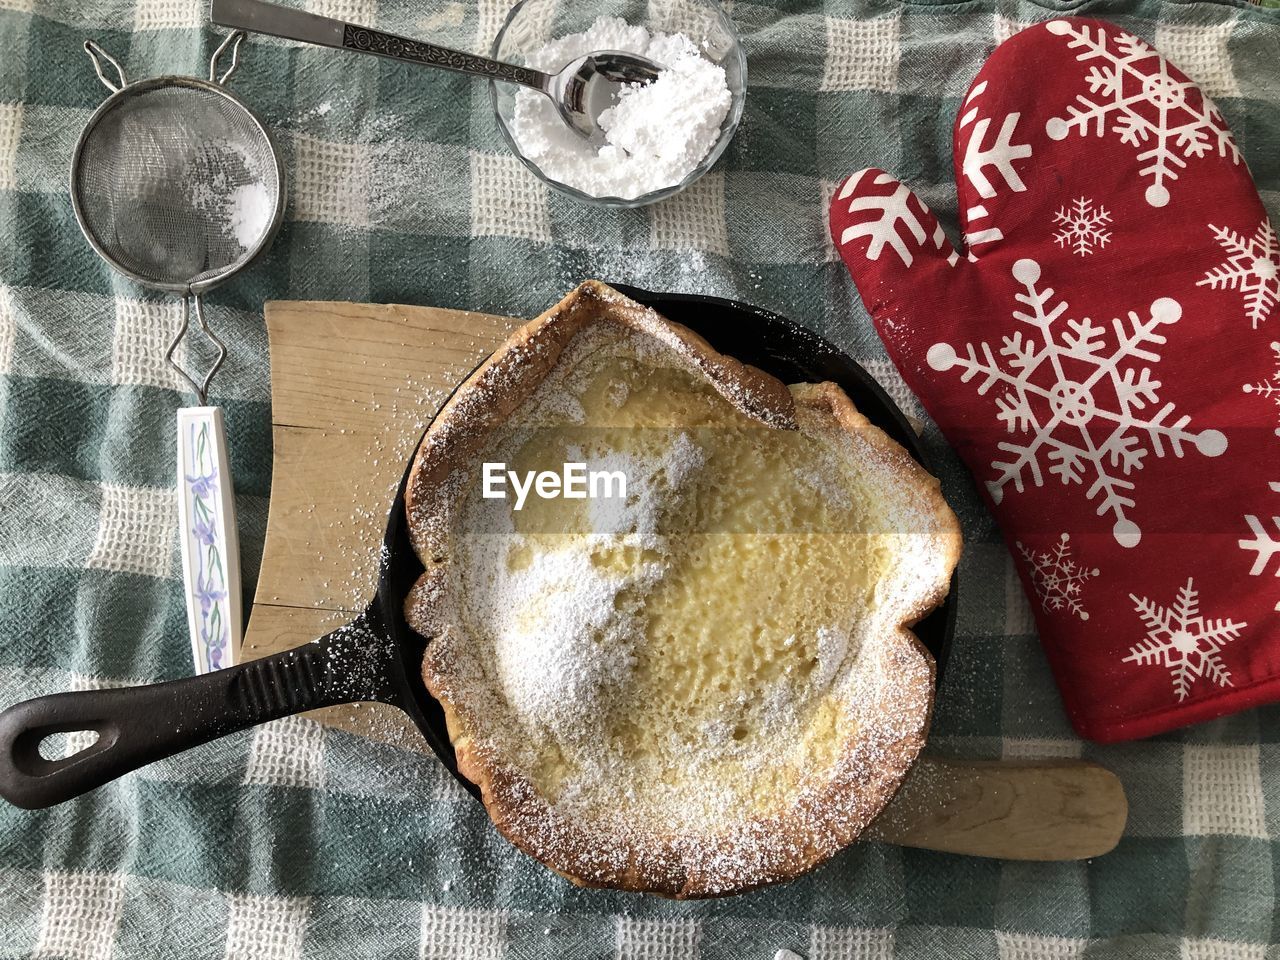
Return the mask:
M922 756L863 836L1006 860L1084 860L1115 847L1128 815L1120 780L1096 763Z

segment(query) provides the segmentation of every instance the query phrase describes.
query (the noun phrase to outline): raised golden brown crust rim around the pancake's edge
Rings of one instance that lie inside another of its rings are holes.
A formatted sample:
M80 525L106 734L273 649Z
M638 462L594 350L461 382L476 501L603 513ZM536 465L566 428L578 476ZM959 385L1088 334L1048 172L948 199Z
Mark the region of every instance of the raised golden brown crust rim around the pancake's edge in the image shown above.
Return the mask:
M422 675L444 709L458 771L474 782L490 818L517 847L575 883L648 891L672 897L737 893L797 877L852 842L896 792L919 754L933 704L934 667L909 627L946 595L960 550L960 532L929 476L908 453L858 412L835 384L788 389L781 381L717 353L700 337L663 320L598 282L588 282L554 308L517 330L445 404L419 449L406 503L415 549L426 572L406 603L410 623L428 636L452 625L438 599L449 554L444 483L468 462L485 435L512 415L556 366L568 344L595 324L617 324L675 348L749 416L782 429L836 426L896 483L918 494L918 507L943 554L938 576L919 591L893 636L877 644L882 681L858 691L855 728L824 781L800 795L785 814L760 817L718 837L602 836L566 817L492 748L484 710L463 692L465 675L448 643L428 645ZM453 637L451 636L451 640Z

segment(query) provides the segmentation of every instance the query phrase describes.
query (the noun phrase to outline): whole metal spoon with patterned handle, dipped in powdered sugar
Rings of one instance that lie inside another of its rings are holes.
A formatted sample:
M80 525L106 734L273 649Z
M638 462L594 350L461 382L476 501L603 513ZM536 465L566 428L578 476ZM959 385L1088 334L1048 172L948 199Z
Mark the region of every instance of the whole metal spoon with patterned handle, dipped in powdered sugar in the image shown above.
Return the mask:
M223 27L236 27L303 44L378 54L393 60L440 67L456 73L520 83L545 93L576 133L602 136L598 118L625 83L652 83L662 69L653 60L621 50L598 50L567 64L559 73L490 60L422 40L397 37L355 23L294 10L265 0L212 0L209 17Z

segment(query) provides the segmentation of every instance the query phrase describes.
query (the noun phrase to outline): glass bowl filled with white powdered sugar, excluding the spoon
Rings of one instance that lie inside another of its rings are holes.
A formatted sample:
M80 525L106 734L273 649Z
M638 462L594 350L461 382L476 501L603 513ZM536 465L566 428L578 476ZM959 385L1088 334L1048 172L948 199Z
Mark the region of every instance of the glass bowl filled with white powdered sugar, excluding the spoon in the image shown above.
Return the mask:
M492 55L558 70L596 50L659 63L648 87L625 91L588 142L535 91L490 83L498 125L540 179L588 204L644 206L680 192L728 146L746 99L746 55L716 0L521 0Z

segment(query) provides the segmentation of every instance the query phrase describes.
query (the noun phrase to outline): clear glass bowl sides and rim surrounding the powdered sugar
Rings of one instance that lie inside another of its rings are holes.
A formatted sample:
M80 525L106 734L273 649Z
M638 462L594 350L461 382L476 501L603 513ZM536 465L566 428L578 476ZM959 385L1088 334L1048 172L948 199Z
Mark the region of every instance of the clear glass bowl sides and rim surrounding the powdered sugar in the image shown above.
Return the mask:
M719 138L703 161L680 183L637 197L595 197L561 183L525 156L512 136L516 92L521 88L490 81L489 95L507 145L539 179L584 204L645 206L682 191L714 166L724 152L742 118L742 105L746 101L746 54L732 20L717 0L520 0L498 31L490 55L497 60L524 65L530 51L538 50L549 40L581 33L599 17L621 17L628 24L644 27L650 33L684 33L698 45L703 56L724 68L732 101L721 124Z

